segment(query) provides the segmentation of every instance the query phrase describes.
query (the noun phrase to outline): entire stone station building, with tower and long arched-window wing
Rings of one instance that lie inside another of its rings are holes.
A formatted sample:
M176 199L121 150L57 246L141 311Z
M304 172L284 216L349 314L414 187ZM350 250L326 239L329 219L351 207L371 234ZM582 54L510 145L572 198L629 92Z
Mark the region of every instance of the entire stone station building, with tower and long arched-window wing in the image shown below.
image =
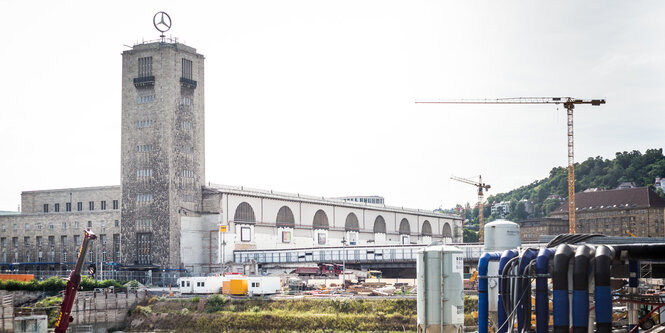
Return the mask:
M67 269L83 228L100 235L88 260L192 273L240 249L462 242L460 217L378 196L206 185L204 60L170 39L122 53L120 185L23 192L21 212L0 215L0 266Z

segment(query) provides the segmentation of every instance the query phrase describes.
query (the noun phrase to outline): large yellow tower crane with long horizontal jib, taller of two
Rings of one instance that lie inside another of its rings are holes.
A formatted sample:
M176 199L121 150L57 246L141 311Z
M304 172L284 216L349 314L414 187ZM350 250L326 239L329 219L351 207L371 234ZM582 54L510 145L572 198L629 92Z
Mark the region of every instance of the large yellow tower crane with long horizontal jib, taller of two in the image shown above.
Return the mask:
M575 228L575 158L573 141L573 109L577 104L601 105L604 99L578 99L572 97L514 97L497 99L458 99L438 101L416 101L416 104L563 104L568 115L568 227L574 234Z

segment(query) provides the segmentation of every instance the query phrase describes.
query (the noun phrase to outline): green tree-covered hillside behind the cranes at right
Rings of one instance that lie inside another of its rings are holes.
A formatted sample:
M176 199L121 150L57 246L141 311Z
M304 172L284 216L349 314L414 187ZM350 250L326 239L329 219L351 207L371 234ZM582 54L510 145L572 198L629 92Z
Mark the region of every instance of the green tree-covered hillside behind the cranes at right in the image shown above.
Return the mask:
M665 177L665 156L662 148L647 149L644 154L638 150L617 152L611 160L600 156L589 157L582 163L575 163L575 192L590 188L614 189L623 182L635 182L637 186L649 186L655 190L653 184L656 177ZM657 189L657 193L665 198L661 188ZM507 193L489 196L484 209L485 221L499 218L490 214L490 207L494 203L509 202L510 213L505 218L522 221L547 216L567 198L568 169L556 167L550 171L547 178L536 180ZM526 204L522 201L524 199L533 204L532 213L527 212ZM466 212L466 218L472 221L469 223L470 227L477 226L478 209L467 209ZM472 238L472 235L469 236Z

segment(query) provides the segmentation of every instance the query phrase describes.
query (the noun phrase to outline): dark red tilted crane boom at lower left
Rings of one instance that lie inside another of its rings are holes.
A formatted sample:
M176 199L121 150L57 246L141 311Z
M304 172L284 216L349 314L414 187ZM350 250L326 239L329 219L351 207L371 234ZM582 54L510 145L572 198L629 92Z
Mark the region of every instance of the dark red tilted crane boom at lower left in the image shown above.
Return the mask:
M70 313L76 299L76 292L81 284L81 270L85 264L85 255L88 253L88 243L93 239L97 239L97 236L90 229L84 230L79 257L76 260L74 270L69 274L67 286L65 287L65 294L60 305L60 314L58 315L58 321L55 323L55 333L65 333L67 327L69 327L69 323L74 320Z

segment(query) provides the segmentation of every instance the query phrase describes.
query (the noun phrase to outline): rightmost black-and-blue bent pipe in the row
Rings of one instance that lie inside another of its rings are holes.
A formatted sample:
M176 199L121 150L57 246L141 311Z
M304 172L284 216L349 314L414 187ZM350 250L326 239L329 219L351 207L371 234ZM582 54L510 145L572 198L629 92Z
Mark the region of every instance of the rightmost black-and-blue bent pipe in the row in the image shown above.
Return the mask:
M612 332L612 288L610 287L610 265L614 249L600 245L596 248L594 300L596 303L596 332ZM538 332L540 333L540 332Z

